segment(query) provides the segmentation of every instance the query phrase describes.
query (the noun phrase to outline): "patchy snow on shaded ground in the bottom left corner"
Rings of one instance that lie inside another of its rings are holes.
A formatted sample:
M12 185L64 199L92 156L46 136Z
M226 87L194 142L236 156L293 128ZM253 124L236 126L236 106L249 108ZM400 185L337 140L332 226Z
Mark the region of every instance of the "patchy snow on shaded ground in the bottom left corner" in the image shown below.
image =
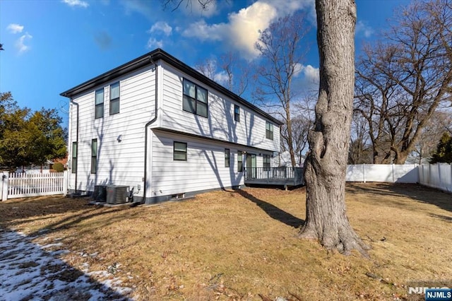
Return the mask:
M45 251L61 245L40 246L23 233L0 229L0 301L131 300L126 295L132 289L121 287L107 271L87 273L89 265L80 271L55 257L69 251ZM110 279L96 281L91 275Z

